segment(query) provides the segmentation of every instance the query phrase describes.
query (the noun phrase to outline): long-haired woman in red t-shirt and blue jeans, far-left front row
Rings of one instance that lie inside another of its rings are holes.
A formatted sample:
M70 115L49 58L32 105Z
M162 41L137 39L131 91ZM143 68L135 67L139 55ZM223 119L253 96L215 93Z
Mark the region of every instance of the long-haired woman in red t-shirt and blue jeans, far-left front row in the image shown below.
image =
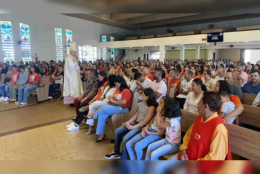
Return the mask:
M28 92L36 89L39 86L39 72L37 71L36 67L33 65L30 67L30 75L29 75L29 82L22 87L18 88L18 101L15 104L24 105L27 103ZM22 98L22 91L24 91L23 98Z

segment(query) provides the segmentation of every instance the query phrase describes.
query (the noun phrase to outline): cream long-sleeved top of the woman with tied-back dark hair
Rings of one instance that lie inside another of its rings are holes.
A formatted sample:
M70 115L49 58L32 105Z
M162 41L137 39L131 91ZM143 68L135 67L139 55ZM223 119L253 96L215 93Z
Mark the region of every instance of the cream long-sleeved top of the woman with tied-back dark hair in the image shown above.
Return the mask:
M184 103L183 109L189 112L198 113L198 102L200 101L201 97L203 96L203 92L199 95L196 99L194 97L194 92L191 91L187 95L187 99Z

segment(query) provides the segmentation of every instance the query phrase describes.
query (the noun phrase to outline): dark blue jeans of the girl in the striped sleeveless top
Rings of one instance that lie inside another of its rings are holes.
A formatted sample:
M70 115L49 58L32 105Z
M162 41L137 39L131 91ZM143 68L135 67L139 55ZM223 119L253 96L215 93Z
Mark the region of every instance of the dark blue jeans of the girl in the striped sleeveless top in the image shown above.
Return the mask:
M134 126L138 124L139 122L134 121L130 125ZM131 138L133 138L135 135L139 134L142 131L143 127L138 127L136 129L128 130L125 126L118 127L115 131L115 147L114 152L119 153L120 152L120 144L122 143L122 155L121 160L127 160L127 150L125 147L126 142L128 142ZM126 133L126 134L125 134ZM125 134L122 140L122 136Z

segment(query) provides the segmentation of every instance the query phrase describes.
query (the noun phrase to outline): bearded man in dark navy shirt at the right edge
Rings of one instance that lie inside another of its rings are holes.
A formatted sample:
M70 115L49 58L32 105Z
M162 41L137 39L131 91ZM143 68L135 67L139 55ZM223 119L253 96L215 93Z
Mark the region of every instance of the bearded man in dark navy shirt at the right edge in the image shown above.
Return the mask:
M243 87L241 87L243 93L257 95L260 92L259 75L260 70L254 69L251 71L251 82L247 82Z

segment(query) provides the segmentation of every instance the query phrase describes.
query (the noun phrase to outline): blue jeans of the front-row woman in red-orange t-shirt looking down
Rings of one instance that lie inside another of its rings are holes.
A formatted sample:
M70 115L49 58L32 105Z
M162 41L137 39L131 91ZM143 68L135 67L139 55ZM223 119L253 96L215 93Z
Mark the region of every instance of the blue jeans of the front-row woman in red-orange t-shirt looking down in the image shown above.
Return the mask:
M97 135L105 134L105 126L106 126L106 119L113 114L123 114L128 112L128 108L124 108L122 106L111 106L111 105L104 105L98 109L98 111L93 115L93 119L97 119Z

